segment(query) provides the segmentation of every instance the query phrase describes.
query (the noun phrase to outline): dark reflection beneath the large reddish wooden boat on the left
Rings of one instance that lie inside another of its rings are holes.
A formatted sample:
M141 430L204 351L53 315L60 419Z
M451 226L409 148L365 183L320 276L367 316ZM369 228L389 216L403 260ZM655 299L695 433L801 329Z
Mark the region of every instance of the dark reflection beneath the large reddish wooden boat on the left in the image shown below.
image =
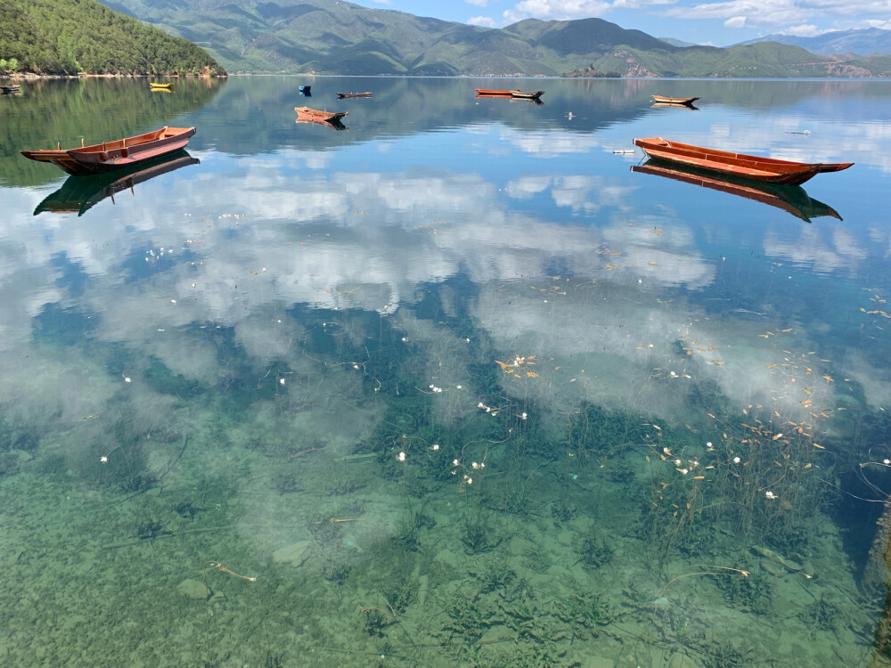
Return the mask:
M34 215L45 211L56 214L84 213L106 198L114 203L115 193L129 190L133 193L136 183L144 183L155 176L168 174L189 165L198 165L200 160L192 158L185 150L176 151L163 158L140 163L130 170L119 169L92 176L69 176L61 188L45 199L34 209ZM135 193L133 193L135 194Z

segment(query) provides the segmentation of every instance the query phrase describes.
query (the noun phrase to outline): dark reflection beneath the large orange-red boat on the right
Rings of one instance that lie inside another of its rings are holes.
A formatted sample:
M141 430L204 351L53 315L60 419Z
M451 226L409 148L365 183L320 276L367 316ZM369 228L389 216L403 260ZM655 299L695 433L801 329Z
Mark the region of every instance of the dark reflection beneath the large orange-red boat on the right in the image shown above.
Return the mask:
M715 191L729 192L747 200L755 200L781 208L808 223L811 222L811 218L822 216L842 219L834 208L823 204L820 200L813 200L800 185L760 183L732 176L718 176L714 172L701 171L693 167L679 167L654 159L649 159L642 165L634 165L631 167L631 171L665 176L675 181L692 183Z

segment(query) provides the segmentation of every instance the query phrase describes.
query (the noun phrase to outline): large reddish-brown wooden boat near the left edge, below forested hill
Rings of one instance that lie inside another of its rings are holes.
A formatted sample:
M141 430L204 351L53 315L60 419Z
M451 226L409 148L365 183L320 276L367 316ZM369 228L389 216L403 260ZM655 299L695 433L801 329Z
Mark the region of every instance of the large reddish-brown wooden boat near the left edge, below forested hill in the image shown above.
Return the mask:
M147 160L184 149L195 134L194 127L162 127L159 130L102 142L79 149L21 151L25 158L50 162L76 176L100 174L124 167L133 167ZM83 143L83 140L81 140Z

